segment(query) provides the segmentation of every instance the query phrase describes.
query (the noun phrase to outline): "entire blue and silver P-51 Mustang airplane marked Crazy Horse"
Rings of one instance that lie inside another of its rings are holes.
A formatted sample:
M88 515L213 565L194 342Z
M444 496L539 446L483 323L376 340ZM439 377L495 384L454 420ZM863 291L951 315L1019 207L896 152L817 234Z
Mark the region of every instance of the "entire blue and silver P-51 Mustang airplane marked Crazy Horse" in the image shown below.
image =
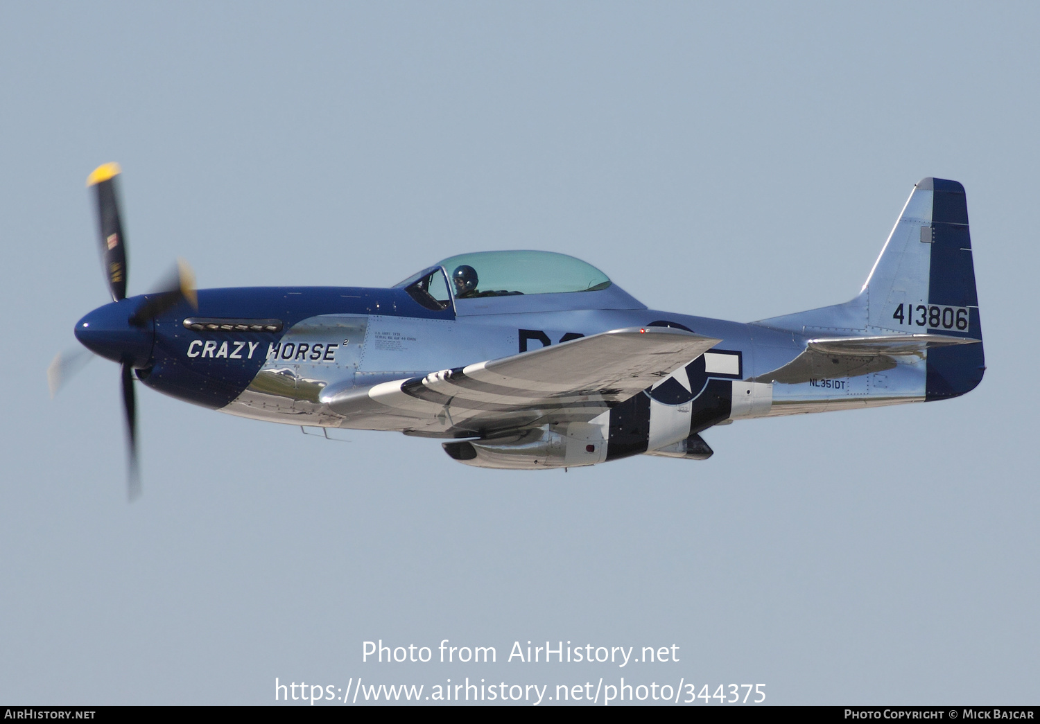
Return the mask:
M440 438L454 460L544 470L703 460L734 420L957 397L985 370L964 188L914 186L860 293L758 322L647 309L548 251L445 259L389 289L126 296L115 164L92 173L114 300L76 337L132 377L223 412Z

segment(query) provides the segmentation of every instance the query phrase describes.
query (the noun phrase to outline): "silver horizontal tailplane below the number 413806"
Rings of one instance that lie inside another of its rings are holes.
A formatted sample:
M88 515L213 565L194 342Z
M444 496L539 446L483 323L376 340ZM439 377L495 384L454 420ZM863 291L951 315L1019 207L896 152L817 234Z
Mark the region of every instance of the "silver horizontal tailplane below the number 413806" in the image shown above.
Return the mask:
M752 378L752 381L797 384L810 379L858 377L891 370L901 356L920 357L928 349L979 342L947 334L880 334L809 340L804 352L783 367Z

